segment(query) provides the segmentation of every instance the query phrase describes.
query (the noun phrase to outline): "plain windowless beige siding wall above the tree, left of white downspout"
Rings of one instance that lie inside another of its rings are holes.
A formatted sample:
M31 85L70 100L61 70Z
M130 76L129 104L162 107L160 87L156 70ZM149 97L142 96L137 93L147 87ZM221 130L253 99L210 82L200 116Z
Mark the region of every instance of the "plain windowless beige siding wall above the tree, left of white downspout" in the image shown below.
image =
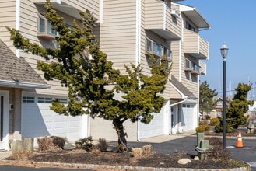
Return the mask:
M103 2L103 23L100 25L100 47L114 68L124 72L124 63L135 64L136 1Z

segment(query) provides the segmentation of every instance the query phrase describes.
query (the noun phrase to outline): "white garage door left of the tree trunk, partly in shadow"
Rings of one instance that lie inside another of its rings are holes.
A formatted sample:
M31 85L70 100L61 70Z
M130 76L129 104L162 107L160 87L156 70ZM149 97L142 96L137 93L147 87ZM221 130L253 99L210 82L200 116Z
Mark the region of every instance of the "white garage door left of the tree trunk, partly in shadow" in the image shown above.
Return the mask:
M76 141L82 136L82 117L59 115L50 110L51 97L23 96L22 136L37 138L61 136ZM61 99L66 103L66 99ZM84 124L84 123L83 123ZM35 142L35 144L37 144Z

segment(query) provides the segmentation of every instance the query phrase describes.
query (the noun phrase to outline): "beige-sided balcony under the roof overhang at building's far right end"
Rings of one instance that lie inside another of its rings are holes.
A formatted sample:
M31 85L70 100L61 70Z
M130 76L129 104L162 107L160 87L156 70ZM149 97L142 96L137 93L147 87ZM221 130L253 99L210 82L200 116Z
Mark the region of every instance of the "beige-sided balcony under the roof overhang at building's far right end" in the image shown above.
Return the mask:
M202 39L198 33L184 29L184 53L198 59L208 59L209 42Z

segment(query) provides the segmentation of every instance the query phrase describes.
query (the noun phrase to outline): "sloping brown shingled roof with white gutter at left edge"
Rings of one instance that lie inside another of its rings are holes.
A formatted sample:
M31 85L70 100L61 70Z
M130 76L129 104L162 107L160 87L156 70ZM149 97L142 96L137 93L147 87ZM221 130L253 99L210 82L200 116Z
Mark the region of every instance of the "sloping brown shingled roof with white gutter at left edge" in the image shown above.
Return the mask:
M0 39L0 86L47 89L50 85L37 74L23 57L16 55Z

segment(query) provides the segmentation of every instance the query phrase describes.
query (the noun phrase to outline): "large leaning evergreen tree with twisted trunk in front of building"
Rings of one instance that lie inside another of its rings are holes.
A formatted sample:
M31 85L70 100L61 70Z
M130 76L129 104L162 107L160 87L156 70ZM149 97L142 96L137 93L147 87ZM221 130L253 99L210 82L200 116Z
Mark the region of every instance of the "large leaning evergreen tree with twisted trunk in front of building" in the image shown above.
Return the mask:
M79 116L89 114L91 117L101 117L112 120L117 132L119 149L128 151L124 121L138 121L139 117L145 124L153 119L153 113L159 113L164 99L164 85L167 83L170 69L167 68L167 57L160 61L149 54L152 61L151 75L143 75L140 65L131 64L126 68L127 74L112 67L107 61L107 54L100 51L100 44L93 34L96 27L91 12L80 12L83 27L75 23L75 29L70 30L64 19L58 16L52 8L50 0L45 4L47 12L44 16L51 23L52 29L58 31L57 49L40 47L30 43L19 30L7 27L15 47L27 53L37 54L51 63L39 61L37 68L44 72L47 80L57 79L61 86L68 87L68 105L57 101L52 102L51 110L56 113ZM83 51L89 48L91 58ZM53 60L52 60L53 59Z

